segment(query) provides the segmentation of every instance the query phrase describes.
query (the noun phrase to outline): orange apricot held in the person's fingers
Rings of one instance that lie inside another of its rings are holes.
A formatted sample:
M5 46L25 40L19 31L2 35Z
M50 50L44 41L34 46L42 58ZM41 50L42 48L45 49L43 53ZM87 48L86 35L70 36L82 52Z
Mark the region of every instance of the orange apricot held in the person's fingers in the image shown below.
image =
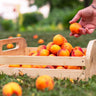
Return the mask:
M72 32L72 34L79 34L79 29L82 28L82 26L79 23L73 23L70 25L69 29Z

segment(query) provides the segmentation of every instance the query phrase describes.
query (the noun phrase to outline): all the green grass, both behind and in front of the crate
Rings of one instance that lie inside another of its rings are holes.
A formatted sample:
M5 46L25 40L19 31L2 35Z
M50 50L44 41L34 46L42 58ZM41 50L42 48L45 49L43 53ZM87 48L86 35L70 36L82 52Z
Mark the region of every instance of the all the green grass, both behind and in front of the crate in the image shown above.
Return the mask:
M87 47L88 42L96 38L96 32L90 35L83 35L79 38L70 37L69 30L65 31L53 31L53 32L0 32L0 39L8 38L9 36L16 37L20 33L27 41L28 46L39 46L37 41L42 38L45 41L45 45L52 41L52 38L56 34L62 34L73 46ZM33 35L38 34L38 39L33 39ZM23 81L20 82L18 79ZM8 82L17 82L21 85L23 90L23 96L96 96L96 76L93 76L88 81L75 80L71 83L69 79L58 80L54 78L55 87L54 90L48 91L47 89L42 92L38 91L35 86L35 79L32 79L25 74L24 76L8 76L6 74L0 74L0 96L2 96L2 87Z

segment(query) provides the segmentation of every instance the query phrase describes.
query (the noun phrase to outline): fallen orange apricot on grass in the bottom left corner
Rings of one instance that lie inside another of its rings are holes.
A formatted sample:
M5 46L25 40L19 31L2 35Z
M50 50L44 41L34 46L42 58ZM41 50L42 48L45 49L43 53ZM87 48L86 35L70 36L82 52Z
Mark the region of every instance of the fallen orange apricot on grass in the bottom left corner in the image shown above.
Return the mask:
M16 82L9 82L8 84L3 86L3 95L4 96L12 96L15 94L16 96L22 96L22 88Z

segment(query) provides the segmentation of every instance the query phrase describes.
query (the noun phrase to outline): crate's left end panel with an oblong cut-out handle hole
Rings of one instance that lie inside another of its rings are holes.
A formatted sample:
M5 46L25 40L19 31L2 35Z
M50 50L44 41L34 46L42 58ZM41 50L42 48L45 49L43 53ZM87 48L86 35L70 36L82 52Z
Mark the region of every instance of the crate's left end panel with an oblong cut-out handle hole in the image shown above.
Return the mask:
M16 43L16 47L3 51L3 46L6 44ZM0 40L0 55L23 55L25 48L27 47L26 40L22 37L1 39Z

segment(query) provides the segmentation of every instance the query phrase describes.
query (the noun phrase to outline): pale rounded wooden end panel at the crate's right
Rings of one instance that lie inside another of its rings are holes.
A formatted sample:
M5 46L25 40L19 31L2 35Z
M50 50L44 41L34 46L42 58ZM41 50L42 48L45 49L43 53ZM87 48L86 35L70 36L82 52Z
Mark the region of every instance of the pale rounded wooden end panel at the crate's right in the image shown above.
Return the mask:
M96 39L89 41L86 51L86 78L96 75Z

